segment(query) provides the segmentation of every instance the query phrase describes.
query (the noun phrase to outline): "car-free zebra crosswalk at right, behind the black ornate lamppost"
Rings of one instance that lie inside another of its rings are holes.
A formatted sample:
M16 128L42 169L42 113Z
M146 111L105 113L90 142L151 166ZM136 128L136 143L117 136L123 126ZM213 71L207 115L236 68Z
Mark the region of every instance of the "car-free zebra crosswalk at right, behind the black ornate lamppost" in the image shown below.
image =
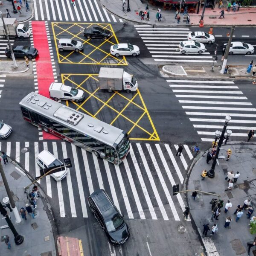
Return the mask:
M236 140L244 140L247 131L255 129L253 108L234 81L167 79L169 87L189 116L202 141L212 141L221 130L225 116L230 115L228 129ZM189 98L189 99L187 99ZM243 126L240 126L243 125Z

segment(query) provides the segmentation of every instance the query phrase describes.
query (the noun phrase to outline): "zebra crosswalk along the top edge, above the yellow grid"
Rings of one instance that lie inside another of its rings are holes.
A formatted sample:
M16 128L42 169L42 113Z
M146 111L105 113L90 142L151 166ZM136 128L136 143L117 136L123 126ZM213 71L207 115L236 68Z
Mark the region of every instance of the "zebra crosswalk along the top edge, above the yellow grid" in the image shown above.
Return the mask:
M33 0L35 20L123 22L97 0Z

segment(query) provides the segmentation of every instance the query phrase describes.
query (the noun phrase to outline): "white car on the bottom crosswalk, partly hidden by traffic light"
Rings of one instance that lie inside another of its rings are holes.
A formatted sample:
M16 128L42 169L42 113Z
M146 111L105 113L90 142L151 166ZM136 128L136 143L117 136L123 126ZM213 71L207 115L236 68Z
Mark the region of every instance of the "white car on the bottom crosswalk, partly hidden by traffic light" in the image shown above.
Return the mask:
M38 166L40 166L42 169L59 166L62 165L60 160L58 160L53 154L51 154L47 150L43 150L41 153L38 154L36 157L36 163ZM67 168L65 167L64 171L55 172L53 174L50 174L56 181L63 180L64 177L67 176Z

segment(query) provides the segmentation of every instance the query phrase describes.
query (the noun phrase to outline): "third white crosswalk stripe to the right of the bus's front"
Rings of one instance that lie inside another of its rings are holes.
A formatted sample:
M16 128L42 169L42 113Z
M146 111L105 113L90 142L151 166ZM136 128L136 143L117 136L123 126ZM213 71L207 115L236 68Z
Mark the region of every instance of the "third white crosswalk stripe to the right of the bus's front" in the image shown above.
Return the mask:
M159 168L159 166L158 166L158 164L157 164L157 160L156 160L156 158L154 157L154 153L153 153L153 151L152 151L152 148L151 148L151 146L150 146L149 144L147 144L147 143L146 143L146 147L148 148L148 153L149 153L149 155L150 155L150 157L151 157L151 160L152 160L152 162L153 162L154 168L155 168L155 170L156 170L156 172L157 172L157 176L158 176L158 178L159 178L159 180L160 180L160 183L161 183L161 185L162 185L162 187L163 187L163 191L164 191L164 193L165 193L165 195L166 195L166 198L167 198L167 200L168 200L169 206L171 207L172 214L173 214L173 216L174 216L174 218L175 218L175 221L180 221L179 215L178 215L177 210L176 210L176 208L175 208L175 204L174 204L173 201L172 201L172 197L171 197L171 195L170 195L170 193L169 193L169 190L168 190L168 188L167 188L167 186L166 186L166 183L165 183L165 181L164 181L162 172L161 172L161 170L160 170L160 168Z

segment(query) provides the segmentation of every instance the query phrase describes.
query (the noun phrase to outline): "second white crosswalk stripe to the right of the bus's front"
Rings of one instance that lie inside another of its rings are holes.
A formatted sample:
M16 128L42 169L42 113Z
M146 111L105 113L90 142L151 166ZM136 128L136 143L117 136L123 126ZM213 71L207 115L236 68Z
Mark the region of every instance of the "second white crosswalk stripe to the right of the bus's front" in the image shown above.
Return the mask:
M149 180L149 182L151 184L151 188L152 188L152 190L154 192L154 195L155 195L155 198L157 200L157 204L158 204L159 209L160 209L160 211L161 211L161 213L163 215L163 219L167 221L167 220L169 220L169 218L167 216L166 210L165 210L165 208L163 206L163 203L161 201L160 195L159 195L159 193L157 191L157 186L154 183L154 178L153 178L153 176L151 174L151 171L150 171L150 168L148 166L147 160L146 160L145 155L143 153L143 149L141 148L141 145L139 143L136 143L136 145L137 145L137 148L139 150L141 160L143 161L143 165L144 165L145 171L146 171L146 173L148 175L148 180Z

